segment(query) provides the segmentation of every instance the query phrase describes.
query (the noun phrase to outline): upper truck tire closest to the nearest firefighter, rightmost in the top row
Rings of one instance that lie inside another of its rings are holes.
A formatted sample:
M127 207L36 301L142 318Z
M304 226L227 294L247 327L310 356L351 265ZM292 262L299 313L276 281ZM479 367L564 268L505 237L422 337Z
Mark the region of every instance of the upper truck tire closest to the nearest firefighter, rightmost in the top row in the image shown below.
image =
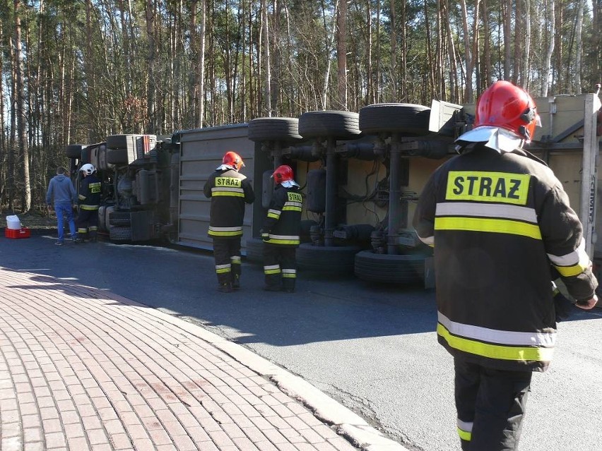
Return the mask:
M367 135L429 133L430 108L409 103L377 103L360 109L360 130Z

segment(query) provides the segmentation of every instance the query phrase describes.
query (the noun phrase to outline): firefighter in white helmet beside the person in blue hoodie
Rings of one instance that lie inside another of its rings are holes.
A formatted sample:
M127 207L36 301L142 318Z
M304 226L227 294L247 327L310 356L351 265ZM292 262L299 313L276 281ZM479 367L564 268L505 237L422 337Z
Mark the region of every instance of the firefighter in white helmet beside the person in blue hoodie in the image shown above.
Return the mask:
M96 241L98 231L98 208L100 207L100 180L96 176L96 168L83 164L79 169L82 179L79 183L76 243Z

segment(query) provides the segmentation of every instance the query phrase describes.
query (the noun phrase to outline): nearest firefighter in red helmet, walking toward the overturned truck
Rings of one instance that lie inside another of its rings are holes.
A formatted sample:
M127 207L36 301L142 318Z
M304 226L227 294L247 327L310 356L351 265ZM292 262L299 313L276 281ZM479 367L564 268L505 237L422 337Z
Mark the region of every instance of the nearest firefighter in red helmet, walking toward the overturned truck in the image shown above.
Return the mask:
M579 217L553 172L522 149L538 121L528 93L492 84L413 220L435 247L437 339L454 357L465 451L517 450L531 374L554 351L550 264L578 307L598 300Z

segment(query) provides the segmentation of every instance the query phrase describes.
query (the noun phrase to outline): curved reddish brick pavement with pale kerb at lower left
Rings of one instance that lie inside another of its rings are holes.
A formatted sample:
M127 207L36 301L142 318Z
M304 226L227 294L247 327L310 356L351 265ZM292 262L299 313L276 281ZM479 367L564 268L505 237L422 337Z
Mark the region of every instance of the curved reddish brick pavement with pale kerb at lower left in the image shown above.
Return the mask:
M202 327L0 267L0 451L37 450L405 448Z

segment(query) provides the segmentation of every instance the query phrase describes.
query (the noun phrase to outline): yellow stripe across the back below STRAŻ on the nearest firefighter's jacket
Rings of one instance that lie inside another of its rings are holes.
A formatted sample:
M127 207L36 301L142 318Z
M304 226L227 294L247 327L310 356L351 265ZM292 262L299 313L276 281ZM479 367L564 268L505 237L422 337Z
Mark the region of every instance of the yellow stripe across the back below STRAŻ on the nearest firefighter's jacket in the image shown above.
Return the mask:
M511 220L486 220L473 217L436 217L435 230L485 231L541 239L541 230L537 225Z

